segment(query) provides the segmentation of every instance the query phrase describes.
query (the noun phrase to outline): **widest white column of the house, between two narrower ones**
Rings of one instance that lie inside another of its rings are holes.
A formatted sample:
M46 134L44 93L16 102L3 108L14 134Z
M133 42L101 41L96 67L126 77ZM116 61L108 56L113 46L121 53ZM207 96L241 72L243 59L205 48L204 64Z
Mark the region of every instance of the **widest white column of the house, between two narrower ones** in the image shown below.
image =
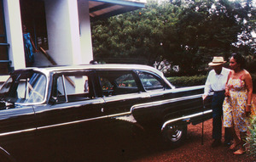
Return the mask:
M49 55L57 64L81 64L78 3L45 0Z

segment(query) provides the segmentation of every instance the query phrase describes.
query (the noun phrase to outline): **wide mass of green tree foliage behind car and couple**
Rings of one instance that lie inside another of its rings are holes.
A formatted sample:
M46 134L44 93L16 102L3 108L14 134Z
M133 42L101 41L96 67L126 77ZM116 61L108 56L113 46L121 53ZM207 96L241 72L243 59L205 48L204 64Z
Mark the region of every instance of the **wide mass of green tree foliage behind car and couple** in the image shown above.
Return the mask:
M252 0L171 2L148 0L145 8L93 22L94 58L148 65L166 59L183 74L198 74L213 56L240 52L256 70Z

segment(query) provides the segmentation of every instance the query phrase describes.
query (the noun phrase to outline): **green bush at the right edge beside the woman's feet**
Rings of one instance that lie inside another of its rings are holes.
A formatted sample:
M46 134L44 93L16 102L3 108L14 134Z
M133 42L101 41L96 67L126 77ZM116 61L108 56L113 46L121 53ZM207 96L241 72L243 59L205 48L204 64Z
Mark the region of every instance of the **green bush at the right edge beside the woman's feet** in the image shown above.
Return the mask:
M253 159L256 159L256 116L251 119L249 133L247 134L247 152Z

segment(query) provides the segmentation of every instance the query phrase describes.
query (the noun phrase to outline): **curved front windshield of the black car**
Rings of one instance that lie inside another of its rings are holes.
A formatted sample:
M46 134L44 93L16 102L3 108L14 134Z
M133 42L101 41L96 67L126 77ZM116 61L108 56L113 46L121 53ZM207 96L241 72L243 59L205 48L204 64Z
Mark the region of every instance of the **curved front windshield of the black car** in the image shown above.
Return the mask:
M9 103L40 103L44 101L46 76L26 71L10 75L0 90L0 98Z

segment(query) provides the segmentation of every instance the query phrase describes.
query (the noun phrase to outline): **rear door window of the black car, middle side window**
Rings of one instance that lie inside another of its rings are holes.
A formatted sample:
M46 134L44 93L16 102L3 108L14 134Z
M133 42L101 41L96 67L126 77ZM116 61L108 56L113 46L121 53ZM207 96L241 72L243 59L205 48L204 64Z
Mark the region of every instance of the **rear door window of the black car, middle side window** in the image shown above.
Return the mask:
M137 83L131 70L97 71L105 97L138 92Z

